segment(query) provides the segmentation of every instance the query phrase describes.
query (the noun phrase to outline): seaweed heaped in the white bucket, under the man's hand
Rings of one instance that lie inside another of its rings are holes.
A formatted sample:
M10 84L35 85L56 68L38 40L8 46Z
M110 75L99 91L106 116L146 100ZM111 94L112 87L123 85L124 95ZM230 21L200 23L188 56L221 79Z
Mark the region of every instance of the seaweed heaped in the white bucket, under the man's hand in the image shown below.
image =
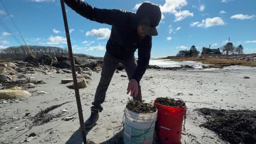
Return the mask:
M126 104L126 108L130 111L137 113L154 113L156 112L156 107L152 104L143 103L142 101L129 100Z

